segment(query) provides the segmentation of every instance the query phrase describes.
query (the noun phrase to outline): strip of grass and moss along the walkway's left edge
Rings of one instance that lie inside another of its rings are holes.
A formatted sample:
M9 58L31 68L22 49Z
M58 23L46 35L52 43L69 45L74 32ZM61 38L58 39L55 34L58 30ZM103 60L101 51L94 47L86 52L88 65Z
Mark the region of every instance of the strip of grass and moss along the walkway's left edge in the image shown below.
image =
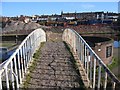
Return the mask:
M23 83L23 88L25 88L25 89L28 88L28 86L29 86L28 83L31 80L31 73L30 72L32 72L36 68L37 61L38 61L40 54L41 54L41 48L44 46L44 44L45 44L45 42L42 42L40 45L40 48L38 50L36 50L36 52L33 55L33 62L28 68L29 73L26 75L26 81Z

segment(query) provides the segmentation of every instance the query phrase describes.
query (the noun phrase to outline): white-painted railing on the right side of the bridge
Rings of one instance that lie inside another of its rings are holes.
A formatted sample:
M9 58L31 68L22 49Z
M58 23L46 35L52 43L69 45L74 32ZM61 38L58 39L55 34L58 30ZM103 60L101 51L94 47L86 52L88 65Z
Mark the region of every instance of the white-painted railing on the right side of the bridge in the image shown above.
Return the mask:
M110 85L115 89L120 85L116 76L75 30L65 29L62 38L81 61L91 88L106 89Z

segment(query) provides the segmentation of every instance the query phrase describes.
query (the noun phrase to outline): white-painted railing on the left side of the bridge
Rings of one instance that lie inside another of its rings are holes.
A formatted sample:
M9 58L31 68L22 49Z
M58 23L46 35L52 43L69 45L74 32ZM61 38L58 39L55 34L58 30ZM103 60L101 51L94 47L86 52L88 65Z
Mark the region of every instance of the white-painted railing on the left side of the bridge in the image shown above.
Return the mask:
M41 42L46 42L46 34L39 28L31 32L11 57L0 64L0 90L19 88L28 64Z

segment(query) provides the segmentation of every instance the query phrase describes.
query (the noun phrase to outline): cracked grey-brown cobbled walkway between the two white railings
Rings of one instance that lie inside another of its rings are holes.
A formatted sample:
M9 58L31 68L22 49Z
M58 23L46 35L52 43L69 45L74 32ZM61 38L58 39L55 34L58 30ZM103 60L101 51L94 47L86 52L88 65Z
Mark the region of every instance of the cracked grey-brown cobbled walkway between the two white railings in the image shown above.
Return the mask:
M46 42L41 53L36 68L31 72L28 88L80 88L80 77L72 63L72 56L62 41Z

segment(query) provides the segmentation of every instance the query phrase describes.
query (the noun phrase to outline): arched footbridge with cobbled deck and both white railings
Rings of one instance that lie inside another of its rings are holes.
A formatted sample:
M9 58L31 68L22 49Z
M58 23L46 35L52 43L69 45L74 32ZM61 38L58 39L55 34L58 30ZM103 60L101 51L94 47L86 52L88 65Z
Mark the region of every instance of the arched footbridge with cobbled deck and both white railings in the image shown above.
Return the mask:
M86 41L65 29L61 40L48 40L39 28L0 64L0 89L118 89L120 81Z

